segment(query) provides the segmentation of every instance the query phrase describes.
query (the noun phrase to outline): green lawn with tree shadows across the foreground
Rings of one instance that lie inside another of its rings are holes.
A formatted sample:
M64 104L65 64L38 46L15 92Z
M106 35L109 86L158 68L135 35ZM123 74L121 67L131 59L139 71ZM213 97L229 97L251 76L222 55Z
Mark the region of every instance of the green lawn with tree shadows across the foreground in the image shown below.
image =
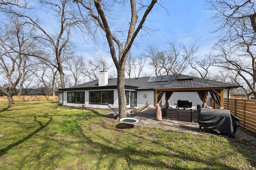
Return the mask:
M103 113L58 102L0 103L0 169L256 169L255 143L128 127Z

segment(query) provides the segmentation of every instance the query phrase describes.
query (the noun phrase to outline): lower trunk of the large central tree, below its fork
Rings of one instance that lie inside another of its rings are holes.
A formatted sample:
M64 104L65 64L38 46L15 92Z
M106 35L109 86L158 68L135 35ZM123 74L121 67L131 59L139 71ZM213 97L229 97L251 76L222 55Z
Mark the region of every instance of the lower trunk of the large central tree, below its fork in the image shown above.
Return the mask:
M119 105L119 118L127 117L126 113L126 97L124 90L124 69L118 69L117 72L117 91L118 91L118 105Z

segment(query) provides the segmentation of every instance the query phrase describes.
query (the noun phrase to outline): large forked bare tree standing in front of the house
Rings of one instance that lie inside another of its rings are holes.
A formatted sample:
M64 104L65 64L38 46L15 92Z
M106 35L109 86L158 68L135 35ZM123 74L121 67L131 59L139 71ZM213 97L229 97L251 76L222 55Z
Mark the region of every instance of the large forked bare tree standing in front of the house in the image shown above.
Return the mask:
M146 21L148 14L156 4L157 0L152 0L149 4L143 4L142 1L139 1L137 3L136 0L129 1L131 19L127 23L128 31L114 30L114 28L112 27L112 25L114 24L114 17L108 16L108 14L110 15L110 6L108 0L94 0L93 3L91 3L90 1L86 3L83 0L74 1L78 2L85 9L90 11L92 18L95 19L96 23L106 36L108 45L110 47L110 54L117 70L119 117L126 117L126 97L124 90L126 60L130 48L134 43L135 37L138 35L139 31L143 29L144 22ZM115 1L113 3L114 5L118 5L118 3L115 3ZM121 5L124 5L122 7L126 6L126 4ZM142 14L142 18L140 20L138 20L138 14ZM122 34L118 35L118 33ZM126 34L126 37L124 36L124 33Z

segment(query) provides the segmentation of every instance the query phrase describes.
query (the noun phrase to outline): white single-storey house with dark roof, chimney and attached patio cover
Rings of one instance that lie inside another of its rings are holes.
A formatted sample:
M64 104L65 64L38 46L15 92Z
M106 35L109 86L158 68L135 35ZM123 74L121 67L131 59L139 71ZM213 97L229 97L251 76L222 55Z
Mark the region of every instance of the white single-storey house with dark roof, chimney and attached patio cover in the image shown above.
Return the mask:
M160 96L165 96L160 93L166 91L172 91L172 96L168 99L169 107L176 107L177 100L189 100L192 102L192 108L196 108L197 104L204 103L198 95L202 91L207 92L208 96L210 92L214 92L219 96L222 104L223 98L230 98L230 89L238 87L240 86L182 74L125 80L127 107L145 106L146 103L151 107L156 104L161 106L166 101L165 97L160 100ZM99 72L98 80L59 90L63 92L60 96L63 106L86 105L86 107L108 108L106 103L118 106L117 78L108 78L107 71ZM209 105L210 98L206 99L206 104Z

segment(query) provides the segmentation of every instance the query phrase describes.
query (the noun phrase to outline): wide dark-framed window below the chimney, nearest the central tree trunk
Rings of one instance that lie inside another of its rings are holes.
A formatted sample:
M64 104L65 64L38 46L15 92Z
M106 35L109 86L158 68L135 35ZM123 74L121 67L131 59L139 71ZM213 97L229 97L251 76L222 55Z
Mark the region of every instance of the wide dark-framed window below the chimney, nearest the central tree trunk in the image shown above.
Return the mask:
M90 92L91 104L114 104L114 91Z

